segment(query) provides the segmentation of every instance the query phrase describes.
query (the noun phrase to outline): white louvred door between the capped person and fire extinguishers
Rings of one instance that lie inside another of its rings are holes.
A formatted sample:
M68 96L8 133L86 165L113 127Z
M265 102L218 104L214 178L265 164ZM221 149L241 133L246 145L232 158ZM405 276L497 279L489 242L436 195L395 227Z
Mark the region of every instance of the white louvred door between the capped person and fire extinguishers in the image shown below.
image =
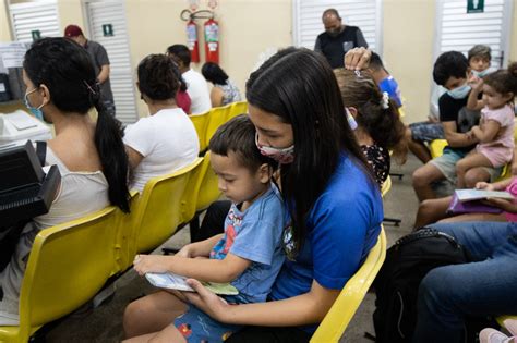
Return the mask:
M116 117L123 123L137 119L123 1L86 1L88 38L101 44L110 62Z

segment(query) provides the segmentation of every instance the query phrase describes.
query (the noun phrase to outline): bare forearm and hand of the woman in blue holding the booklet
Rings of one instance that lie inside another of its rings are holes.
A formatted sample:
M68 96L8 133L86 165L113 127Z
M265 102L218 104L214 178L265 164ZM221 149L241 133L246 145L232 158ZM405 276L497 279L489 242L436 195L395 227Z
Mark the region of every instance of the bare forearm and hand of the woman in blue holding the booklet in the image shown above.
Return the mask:
M286 327L318 323L339 295L340 290L329 290L312 282L311 290L282 301L228 305L206 290L196 280L188 280L195 293L184 292L193 305L214 319L233 324Z

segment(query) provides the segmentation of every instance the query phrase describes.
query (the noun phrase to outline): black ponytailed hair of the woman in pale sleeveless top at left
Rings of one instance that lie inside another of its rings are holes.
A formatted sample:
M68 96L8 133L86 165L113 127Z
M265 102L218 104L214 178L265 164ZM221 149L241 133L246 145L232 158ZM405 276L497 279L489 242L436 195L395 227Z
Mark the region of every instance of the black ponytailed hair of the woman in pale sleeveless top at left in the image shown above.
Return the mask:
M129 212L128 155L120 122L103 106L97 75L86 50L67 38L43 38L25 53L23 69L36 87L47 86L52 103L64 114L87 115L95 106L95 146L108 181L109 200Z

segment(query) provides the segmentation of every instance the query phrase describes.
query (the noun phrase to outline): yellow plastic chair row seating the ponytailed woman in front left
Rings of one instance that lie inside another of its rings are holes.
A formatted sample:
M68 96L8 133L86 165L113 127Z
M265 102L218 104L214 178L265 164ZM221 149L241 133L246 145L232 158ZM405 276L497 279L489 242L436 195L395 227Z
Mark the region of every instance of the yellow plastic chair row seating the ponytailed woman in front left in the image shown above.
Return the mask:
M0 327L0 342L27 342L43 324L93 298L137 253L165 242L220 196L209 154L132 193L131 213L110 206L45 229L31 252L20 295L20 326Z

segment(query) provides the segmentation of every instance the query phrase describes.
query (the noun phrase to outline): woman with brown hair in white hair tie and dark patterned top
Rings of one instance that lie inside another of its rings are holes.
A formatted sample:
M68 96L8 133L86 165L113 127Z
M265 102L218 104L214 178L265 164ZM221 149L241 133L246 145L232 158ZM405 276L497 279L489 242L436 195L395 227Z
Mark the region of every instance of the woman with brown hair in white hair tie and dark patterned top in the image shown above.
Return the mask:
M389 175L389 150L394 150L397 162L406 162L405 126L397 106L387 93L381 93L369 72L337 69L334 74L347 115L357 123L354 134L358 143L382 186Z

